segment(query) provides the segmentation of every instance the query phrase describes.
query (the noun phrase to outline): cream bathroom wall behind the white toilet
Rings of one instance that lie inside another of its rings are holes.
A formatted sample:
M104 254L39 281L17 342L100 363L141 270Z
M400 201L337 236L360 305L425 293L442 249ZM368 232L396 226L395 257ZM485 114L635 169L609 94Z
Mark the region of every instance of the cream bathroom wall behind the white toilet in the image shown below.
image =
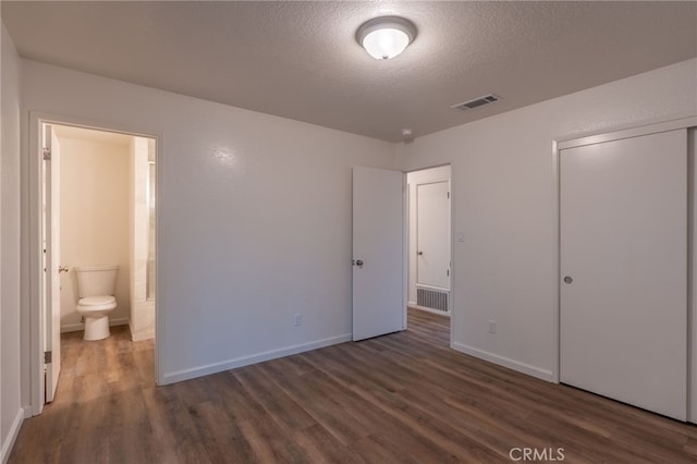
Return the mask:
M110 322L127 323L131 313L129 254L130 158L127 144L66 138L61 147L60 260L61 330L83 330L75 268L119 265L117 308Z

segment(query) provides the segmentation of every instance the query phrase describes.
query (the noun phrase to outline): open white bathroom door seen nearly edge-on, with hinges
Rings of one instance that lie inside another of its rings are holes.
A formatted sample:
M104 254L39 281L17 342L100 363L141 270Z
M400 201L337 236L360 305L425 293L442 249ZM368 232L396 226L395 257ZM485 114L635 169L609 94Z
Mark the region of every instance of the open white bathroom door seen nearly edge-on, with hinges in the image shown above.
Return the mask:
M46 402L53 401L61 371L60 288L60 145L53 129L44 126L44 362Z

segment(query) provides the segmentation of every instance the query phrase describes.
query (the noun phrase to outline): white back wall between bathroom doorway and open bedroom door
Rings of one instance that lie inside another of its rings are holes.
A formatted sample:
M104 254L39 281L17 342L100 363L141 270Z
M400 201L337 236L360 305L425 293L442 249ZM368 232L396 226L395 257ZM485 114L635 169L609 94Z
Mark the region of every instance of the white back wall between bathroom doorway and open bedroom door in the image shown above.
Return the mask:
M33 61L23 89L25 115L162 136L161 382L348 340L351 169L393 144Z

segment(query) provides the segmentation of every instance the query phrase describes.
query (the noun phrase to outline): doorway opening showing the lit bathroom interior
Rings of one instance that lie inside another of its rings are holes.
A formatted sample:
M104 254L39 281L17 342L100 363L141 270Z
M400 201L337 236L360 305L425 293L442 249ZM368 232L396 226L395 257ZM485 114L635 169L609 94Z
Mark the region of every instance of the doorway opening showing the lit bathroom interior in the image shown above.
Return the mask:
M44 376L33 396L44 404L53 400L60 381L61 333L85 331L85 339L93 338L87 337L91 313L78 305L87 295L77 271L118 269L110 295L117 307L107 313L108 325L121 340L155 338L157 141L61 122L39 121L39 131L42 273L37 339Z

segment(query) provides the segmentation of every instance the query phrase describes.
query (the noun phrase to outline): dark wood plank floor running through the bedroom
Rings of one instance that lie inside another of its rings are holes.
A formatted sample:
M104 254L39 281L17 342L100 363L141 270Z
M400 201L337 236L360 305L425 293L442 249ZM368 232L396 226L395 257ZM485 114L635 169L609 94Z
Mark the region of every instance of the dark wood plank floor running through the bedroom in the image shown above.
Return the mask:
M697 427L456 353L448 322L409 310L404 332L167 387L152 342L66 334L10 463L697 462Z

